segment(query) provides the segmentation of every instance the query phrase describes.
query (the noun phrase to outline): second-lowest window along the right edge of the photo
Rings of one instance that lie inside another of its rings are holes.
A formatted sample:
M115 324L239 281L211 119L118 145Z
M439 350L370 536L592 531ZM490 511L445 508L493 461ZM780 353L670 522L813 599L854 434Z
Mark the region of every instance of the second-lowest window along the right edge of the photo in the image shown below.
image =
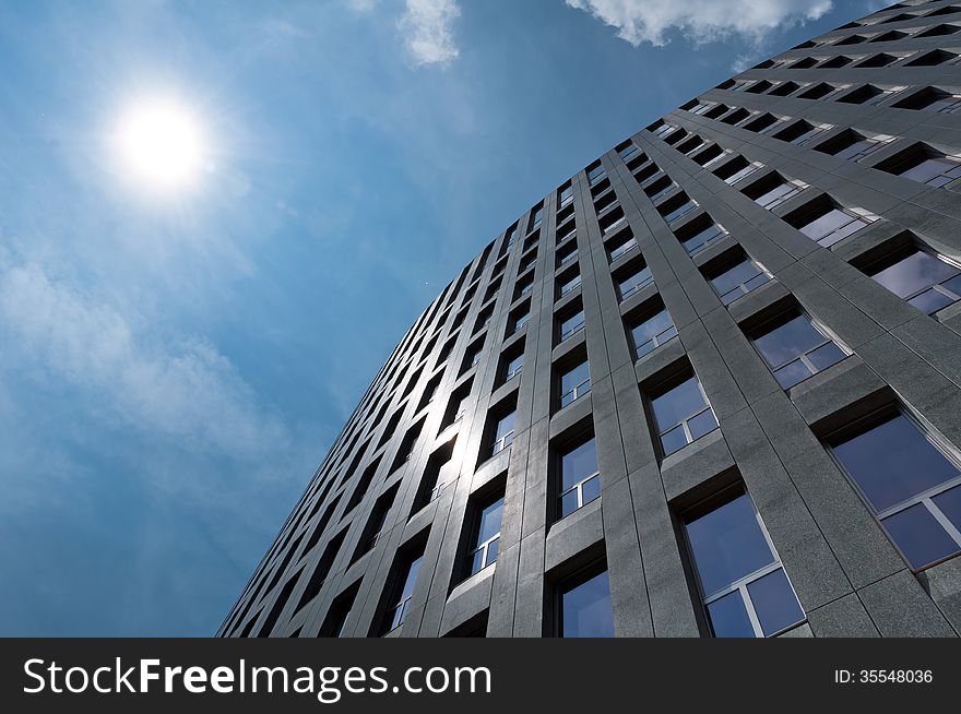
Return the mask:
M961 270L916 246L889 254L866 272L928 314L961 299Z

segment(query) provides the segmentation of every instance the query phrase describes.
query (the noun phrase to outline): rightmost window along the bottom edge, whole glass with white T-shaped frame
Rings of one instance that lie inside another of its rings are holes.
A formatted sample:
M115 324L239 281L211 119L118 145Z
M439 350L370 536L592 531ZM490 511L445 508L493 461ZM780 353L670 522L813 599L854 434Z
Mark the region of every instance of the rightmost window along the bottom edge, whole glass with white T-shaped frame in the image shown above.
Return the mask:
M685 533L714 636L771 636L804 620L747 493L687 520Z

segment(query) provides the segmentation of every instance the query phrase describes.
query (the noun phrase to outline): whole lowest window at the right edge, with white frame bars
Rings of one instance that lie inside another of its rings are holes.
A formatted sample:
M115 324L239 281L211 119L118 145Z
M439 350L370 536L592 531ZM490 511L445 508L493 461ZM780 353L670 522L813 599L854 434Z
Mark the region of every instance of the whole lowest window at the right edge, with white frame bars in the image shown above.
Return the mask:
M913 569L961 550L958 466L911 419L889 413L832 449Z

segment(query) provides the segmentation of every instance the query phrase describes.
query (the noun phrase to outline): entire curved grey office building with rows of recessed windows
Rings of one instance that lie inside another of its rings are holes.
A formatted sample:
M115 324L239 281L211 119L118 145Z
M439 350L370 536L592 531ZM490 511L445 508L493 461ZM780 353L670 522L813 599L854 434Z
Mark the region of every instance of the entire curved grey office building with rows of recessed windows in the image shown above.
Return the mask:
M420 316L220 634L957 636L959 187L949 0L657 119Z

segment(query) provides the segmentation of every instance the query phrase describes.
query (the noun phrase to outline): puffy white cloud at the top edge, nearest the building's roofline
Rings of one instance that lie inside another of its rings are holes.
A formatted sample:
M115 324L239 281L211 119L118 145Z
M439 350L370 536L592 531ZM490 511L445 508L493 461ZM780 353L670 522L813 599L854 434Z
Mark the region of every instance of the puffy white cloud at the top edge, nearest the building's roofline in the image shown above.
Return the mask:
M732 35L760 43L779 26L817 20L831 0L565 0L617 28L617 36L638 46L666 45L677 31L695 43Z

